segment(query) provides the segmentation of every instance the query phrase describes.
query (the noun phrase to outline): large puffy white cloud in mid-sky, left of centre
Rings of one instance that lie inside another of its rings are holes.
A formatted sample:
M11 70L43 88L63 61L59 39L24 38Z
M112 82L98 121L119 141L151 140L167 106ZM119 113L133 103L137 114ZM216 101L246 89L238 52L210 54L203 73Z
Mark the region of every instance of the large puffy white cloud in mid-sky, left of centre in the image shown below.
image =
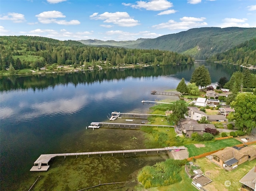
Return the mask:
M134 20L127 12L104 12L103 14L94 13L90 18L95 20L104 20L104 23L113 23L122 27L133 27L139 25L138 20Z

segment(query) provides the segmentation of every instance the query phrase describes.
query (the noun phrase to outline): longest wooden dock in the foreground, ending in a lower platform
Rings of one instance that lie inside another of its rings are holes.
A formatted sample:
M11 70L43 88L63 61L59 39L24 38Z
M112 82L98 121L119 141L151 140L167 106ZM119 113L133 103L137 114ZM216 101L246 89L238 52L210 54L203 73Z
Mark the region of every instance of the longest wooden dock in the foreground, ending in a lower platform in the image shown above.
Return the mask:
M88 155L88 157L90 157L90 155L95 155L98 154L99 156L101 156L102 154L113 154L114 153L122 153L123 155L125 153L134 153L136 155L136 153L138 152L145 152L147 154L147 152L150 151L156 151L157 153L159 151L171 151L171 150L177 150L177 149L187 149L184 146L180 146L180 147L176 147L176 146L172 146L172 147L166 147L166 148L154 148L154 149L135 149L135 150L116 150L116 151L98 151L98 152L82 152L82 153L61 153L61 154L42 154L40 155L40 157L38 159L36 159L36 161L34 161L34 166L30 169L30 171L47 171L48 168L50 167L50 165L48 165L49 161L56 157L56 156L64 156L64 158L66 158L66 156L80 156L80 155ZM46 165L42 165L42 164L46 164ZM39 167L40 165L40 167ZM42 165L42 166L41 166ZM42 167L46 167L44 169L42 169Z

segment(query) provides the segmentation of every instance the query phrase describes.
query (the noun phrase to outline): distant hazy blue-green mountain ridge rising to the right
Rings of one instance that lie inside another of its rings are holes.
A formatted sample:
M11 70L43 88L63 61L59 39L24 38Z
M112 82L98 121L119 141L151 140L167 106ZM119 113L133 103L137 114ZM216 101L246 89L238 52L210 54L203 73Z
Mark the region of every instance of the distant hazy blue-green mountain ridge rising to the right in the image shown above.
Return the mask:
M102 45L115 45L128 48L133 47L137 49L169 50L178 53L186 53L196 59L206 59L216 53L227 51L228 49L254 37L256 37L256 28L206 27L163 35L154 39L145 39L142 42L137 40L134 41L134 44L132 45L129 45L129 43L125 45L123 41L120 41L119 44L117 41L115 41L115 44L103 41ZM85 43L85 41L81 42Z

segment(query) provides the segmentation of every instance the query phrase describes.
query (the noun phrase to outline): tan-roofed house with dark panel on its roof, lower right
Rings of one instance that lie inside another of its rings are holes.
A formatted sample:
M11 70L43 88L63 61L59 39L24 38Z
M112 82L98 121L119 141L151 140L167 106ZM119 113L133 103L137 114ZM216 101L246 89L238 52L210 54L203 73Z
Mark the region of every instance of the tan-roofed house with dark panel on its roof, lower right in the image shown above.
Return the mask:
M212 154L212 162L226 169L234 169L247 160L255 159L255 152L256 148L250 146L244 148L226 147Z

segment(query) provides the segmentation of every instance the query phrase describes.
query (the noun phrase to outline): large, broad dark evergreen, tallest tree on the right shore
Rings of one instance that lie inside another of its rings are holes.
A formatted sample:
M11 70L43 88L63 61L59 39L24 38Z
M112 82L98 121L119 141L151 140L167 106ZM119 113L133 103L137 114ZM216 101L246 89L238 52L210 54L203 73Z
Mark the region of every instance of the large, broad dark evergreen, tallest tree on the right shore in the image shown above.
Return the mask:
M196 83L199 87L206 87L211 84L211 77L208 69L204 65L199 66L192 73L190 83Z

